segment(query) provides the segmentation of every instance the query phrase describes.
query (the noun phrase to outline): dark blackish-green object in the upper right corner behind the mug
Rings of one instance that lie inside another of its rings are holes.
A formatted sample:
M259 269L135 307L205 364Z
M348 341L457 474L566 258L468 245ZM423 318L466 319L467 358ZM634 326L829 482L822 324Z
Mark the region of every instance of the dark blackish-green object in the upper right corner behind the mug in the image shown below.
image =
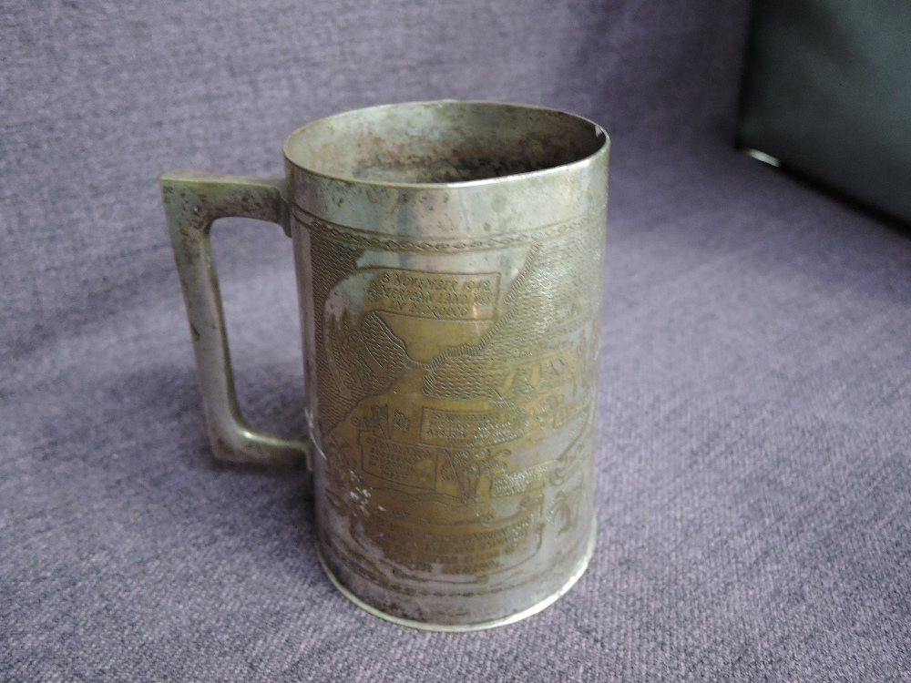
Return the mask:
M911 3L755 0L739 143L911 223Z

